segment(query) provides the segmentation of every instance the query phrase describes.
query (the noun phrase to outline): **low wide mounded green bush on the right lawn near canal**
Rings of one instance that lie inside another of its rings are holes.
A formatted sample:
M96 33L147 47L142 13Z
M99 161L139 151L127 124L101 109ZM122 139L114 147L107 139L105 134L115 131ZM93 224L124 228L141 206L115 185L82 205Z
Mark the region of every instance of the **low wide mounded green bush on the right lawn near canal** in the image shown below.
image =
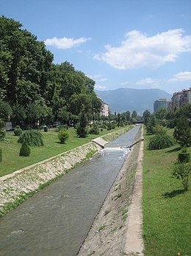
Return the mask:
M175 144L173 138L168 134L156 134L154 135L148 144L148 149L150 151L169 148Z

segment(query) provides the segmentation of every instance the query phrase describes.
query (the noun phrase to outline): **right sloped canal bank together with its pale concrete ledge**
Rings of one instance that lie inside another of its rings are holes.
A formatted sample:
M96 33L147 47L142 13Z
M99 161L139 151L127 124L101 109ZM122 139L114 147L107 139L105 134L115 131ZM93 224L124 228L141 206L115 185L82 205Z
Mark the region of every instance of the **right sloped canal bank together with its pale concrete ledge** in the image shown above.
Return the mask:
M137 139L140 137L141 134ZM137 193L141 191L142 151L143 142L131 148L78 256L143 255L143 242L140 239L141 208L134 207ZM141 194L139 204L140 200ZM137 224L132 224L131 221L137 218Z

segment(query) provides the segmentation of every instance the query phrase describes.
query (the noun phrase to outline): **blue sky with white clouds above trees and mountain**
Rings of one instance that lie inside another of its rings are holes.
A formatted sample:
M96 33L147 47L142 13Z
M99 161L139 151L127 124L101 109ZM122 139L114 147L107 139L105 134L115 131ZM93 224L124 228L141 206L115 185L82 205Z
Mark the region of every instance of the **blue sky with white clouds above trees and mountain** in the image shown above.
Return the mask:
M0 0L44 41L54 63L65 60L95 89L191 87L190 0Z

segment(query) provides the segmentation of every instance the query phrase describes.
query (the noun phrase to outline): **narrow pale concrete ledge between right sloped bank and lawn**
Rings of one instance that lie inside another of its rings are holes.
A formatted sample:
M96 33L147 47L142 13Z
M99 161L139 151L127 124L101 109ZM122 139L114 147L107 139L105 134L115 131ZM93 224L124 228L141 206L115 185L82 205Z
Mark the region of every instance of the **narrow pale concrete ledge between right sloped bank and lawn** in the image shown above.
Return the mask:
M143 126L142 126L143 136ZM128 229L126 233L126 255L143 256L143 238L142 238L142 160L143 160L143 140L140 145L138 157L137 172L135 176L133 198L129 208Z

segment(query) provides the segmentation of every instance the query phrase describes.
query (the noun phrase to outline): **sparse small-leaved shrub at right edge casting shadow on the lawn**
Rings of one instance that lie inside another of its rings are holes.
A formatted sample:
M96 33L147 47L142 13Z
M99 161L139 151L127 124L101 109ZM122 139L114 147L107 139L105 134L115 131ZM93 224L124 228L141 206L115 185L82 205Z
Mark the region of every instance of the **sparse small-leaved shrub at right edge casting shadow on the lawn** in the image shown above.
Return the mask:
M189 177L191 174L190 162L176 162L173 166L173 177L181 179L181 184L184 186L184 190L188 190Z

